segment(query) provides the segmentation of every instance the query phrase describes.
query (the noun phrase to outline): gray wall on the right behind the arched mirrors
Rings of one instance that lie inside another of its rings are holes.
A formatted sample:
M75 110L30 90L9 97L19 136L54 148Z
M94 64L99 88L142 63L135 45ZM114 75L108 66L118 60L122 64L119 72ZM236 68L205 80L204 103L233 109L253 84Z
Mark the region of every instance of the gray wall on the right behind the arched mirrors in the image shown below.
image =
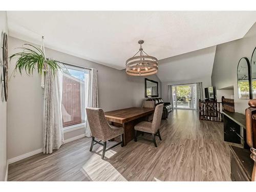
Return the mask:
M248 107L248 100L238 99L237 65L241 57L247 57L251 60L255 46L256 24L251 27L244 38L217 46L211 74L211 84L217 89L234 87L235 110L243 114Z

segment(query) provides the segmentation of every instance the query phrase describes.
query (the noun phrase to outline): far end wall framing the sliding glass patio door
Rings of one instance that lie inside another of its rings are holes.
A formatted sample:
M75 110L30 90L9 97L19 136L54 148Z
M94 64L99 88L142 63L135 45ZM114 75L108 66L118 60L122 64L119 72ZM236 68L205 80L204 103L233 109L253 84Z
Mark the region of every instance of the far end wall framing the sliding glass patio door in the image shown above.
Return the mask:
M204 88L211 86L211 79L210 76L207 77L200 77L195 79L189 79L189 80L180 80L180 81L170 81L170 82L162 82L162 98L165 102L168 101L168 85L169 84L185 84L185 83L196 83L196 82L202 82L203 85L203 96L204 95Z

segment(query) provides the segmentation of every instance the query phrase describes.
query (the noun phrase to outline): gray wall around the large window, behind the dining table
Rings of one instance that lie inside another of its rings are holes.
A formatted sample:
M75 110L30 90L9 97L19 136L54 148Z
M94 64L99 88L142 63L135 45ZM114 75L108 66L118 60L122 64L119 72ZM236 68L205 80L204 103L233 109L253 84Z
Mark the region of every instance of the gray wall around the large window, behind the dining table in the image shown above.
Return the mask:
M16 47L26 42L9 38L9 55L15 53ZM51 49L46 49L47 57L73 63L78 66L96 68L98 70L99 106L105 111L141 106L144 99L144 77L132 77L125 71L116 70L98 63L74 57ZM14 69L15 60L11 62ZM161 82L156 75L147 78ZM9 89L8 111L8 159L38 150L42 147L42 102L43 90L40 87L40 76L34 74L16 74L11 78ZM81 134L81 130L65 134L65 139Z

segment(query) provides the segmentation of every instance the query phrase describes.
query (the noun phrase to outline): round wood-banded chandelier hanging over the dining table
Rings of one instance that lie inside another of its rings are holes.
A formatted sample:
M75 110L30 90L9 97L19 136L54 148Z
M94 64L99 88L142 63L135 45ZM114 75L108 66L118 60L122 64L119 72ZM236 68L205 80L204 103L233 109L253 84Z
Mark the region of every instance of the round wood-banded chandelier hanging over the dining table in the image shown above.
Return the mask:
M126 60L125 71L128 75L146 76L153 75L158 72L158 60L156 57L150 56L143 51L141 47L143 42L144 40L138 41L140 44L139 51L133 57Z

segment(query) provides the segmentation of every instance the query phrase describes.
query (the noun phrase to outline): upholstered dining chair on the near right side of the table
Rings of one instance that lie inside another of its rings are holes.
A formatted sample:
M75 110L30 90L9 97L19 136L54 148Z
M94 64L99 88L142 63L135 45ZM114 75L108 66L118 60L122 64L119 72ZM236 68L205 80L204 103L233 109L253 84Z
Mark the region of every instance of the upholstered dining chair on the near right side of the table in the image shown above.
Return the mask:
M137 131L151 133L152 140L149 140L149 141L153 142L155 144L155 147L157 147L156 136L158 136L159 139L162 140L160 131L159 131L162 113L163 113L163 104L159 104L155 108L154 117L153 117L152 122L142 121L134 126L134 129L135 129L134 141L135 142L137 141L137 138L138 138ZM148 139L146 139L146 140L148 140Z

